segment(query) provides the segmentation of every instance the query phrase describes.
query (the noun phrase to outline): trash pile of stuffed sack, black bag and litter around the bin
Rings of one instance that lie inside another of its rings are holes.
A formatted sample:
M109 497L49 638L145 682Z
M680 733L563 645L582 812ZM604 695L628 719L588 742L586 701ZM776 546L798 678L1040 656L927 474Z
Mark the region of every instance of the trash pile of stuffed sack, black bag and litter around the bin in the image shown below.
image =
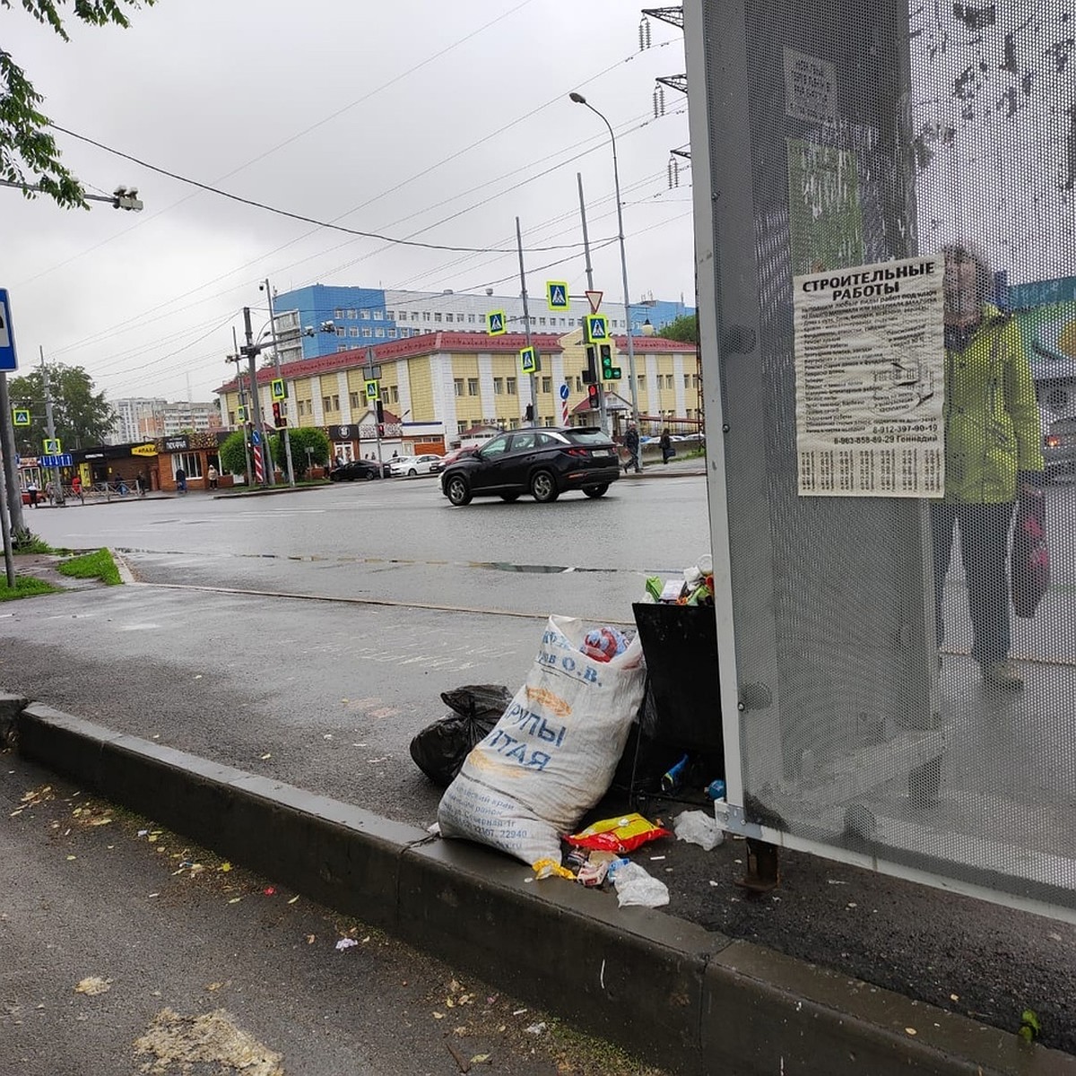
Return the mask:
M712 604L708 560L688 569L675 587L657 580L665 600ZM653 585L648 581L648 590ZM612 887L621 906L667 904L665 883L628 859L643 844L672 837L661 820L629 812L575 832L613 785L614 774L637 768L637 749L625 747L629 735L637 739L648 724L646 683L642 645L634 631L551 617L514 695L499 684L444 692L441 698L452 712L411 741L415 764L447 787L430 831L513 855L538 879ZM694 755L681 749L672 758L661 778L669 798L690 789L704 804L723 799L724 781L712 773L703 779ZM709 801L702 794L706 781ZM681 812L672 830L678 840L708 851L724 836L712 809Z

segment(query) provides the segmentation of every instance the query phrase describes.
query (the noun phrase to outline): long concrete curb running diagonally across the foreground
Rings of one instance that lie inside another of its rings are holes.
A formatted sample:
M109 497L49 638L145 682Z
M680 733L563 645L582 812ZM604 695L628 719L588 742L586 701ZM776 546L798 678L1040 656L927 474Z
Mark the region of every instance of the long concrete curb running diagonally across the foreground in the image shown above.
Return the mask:
M1076 1076L1076 1057L479 846L4 700L25 758L669 1072Z

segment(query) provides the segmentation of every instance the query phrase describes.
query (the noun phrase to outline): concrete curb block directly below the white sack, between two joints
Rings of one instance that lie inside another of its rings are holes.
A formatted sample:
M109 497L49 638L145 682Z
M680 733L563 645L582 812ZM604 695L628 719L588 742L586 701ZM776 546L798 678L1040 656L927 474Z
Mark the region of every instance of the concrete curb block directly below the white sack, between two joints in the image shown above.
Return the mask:
M399 933L668 1071L700 1072L703 976L728 939L564 879L528 878L524 864L466 841L409 848Z

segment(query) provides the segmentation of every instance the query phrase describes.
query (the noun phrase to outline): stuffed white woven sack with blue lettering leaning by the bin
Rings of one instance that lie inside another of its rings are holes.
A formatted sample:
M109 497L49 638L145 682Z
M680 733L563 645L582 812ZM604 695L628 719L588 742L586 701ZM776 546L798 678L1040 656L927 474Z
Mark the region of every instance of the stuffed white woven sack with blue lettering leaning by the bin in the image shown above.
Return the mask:
M561 861L561 834L609 788L646 676L638 638L597 662L580 650L585 635L582 621L550 617L526 683L441 798L443 836L528 865Z

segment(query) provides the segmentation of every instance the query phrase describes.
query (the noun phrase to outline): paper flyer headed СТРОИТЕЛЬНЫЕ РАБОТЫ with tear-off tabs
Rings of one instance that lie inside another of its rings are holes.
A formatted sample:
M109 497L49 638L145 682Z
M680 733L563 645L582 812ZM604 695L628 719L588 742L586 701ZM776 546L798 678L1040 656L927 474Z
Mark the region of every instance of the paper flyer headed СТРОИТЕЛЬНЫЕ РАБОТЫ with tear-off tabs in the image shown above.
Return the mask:
M794 278L801 496L945 493L940 257Z

